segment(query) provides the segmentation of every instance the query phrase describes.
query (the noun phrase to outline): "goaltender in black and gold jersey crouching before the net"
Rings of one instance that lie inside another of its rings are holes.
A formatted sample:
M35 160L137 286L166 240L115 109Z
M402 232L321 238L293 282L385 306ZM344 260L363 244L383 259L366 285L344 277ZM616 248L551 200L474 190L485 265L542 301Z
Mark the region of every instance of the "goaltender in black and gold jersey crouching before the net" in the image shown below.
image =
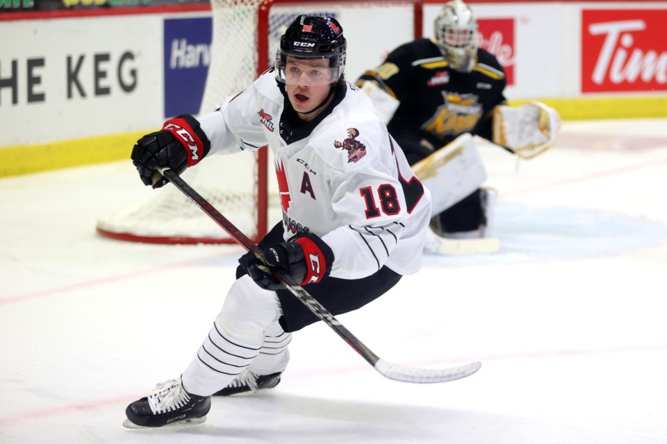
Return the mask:
M434 31L434 39L420 38L390 52L357 85L371 96L415 172L440 166L438 178L424 180L433 198L431 228L441 237L484 237L495 191L480 187L486 171L472 138L457 137L479 135L534 157L552 146L558 116L542 103L505 105L504 71L478 47L477 20L466 3L446 3ZM455 139L459 151L452 144L449 152L438 153ZM440 156L440 162L429 162L431 156ZM438 237L432 234L427 249L436 251Z

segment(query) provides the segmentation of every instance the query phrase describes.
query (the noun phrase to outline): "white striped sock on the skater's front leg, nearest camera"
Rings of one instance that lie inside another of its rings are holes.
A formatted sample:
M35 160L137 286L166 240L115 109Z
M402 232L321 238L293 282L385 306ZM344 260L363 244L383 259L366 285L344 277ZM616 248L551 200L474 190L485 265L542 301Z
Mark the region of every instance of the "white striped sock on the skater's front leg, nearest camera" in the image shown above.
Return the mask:
M181 375L183 387L209 396L227 386L257 357L265 330L277 324L279 316L274 291L257 287L248 276L236 280L197 356Z

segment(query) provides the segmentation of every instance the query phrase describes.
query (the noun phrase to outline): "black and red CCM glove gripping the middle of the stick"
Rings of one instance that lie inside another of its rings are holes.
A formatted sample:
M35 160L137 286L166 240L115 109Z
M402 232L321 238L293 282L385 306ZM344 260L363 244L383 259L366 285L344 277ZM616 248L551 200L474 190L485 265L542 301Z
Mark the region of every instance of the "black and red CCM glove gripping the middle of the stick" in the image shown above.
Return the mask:
M316 284L331 272L334 252L315 234L304 234L290 242L281 242L264 250L266 263L249 252L238 259L255 283L266 290L281 290L285 286L274 275L282 271L299 285Z

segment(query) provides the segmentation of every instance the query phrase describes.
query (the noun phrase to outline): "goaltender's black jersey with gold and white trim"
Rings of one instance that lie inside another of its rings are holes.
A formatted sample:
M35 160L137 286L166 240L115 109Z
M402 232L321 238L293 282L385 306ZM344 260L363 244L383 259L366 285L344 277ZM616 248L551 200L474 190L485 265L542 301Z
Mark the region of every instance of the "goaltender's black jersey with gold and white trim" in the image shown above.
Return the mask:
M426 38L399 46L357 83L365 80L400 101L388 129L411 164L462 133L491 139L491 110L506 101L504 71L491 53L478 49L472 71L461 73Z

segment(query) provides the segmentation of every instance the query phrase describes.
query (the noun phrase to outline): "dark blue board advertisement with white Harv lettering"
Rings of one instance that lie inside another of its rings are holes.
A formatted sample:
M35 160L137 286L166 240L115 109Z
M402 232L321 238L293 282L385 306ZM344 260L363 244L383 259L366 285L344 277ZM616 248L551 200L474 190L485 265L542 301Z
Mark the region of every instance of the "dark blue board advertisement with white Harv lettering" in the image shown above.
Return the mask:
M211 65L211 32L211 17L165 19L165 118L199 113Z

